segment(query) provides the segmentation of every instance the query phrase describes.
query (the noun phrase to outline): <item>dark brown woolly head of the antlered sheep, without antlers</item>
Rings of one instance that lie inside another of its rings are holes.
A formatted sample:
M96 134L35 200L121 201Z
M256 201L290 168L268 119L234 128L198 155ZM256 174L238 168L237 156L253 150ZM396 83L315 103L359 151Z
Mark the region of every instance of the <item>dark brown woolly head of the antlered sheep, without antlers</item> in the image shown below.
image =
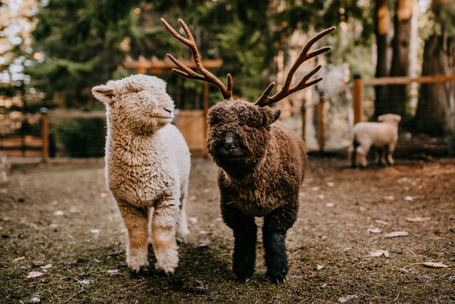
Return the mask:
M209 109L207 147L216 164L234 177L255 170L267 154L270 124L279 110L243 100L227 100Z

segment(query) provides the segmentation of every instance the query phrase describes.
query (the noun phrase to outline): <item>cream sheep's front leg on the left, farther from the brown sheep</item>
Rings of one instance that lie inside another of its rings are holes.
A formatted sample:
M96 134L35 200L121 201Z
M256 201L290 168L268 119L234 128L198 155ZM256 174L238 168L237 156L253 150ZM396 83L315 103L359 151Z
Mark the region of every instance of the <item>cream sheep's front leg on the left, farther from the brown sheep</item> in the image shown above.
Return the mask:
M119 203L118 209L128 230L128 267L137 273L148 265L148 208Z

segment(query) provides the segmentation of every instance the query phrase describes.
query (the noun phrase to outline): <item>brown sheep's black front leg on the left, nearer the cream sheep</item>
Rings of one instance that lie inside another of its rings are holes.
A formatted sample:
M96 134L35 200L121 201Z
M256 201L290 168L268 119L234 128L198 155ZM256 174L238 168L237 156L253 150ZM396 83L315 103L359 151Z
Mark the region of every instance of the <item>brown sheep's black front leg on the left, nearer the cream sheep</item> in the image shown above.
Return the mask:
M227 204L221 206L221 213L224 222L234 233L232 270L239 281L248 282L255 271L257 239L255 219Z

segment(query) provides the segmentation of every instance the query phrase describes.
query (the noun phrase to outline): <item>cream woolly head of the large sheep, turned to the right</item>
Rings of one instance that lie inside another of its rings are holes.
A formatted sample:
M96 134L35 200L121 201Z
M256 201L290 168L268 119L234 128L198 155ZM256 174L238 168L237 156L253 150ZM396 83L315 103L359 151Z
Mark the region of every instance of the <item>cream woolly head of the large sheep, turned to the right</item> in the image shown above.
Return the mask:
M174 101L166 93L166 83L154 76L138 74L108 81L92 92L106 104L116 127L147 135L172 121Z

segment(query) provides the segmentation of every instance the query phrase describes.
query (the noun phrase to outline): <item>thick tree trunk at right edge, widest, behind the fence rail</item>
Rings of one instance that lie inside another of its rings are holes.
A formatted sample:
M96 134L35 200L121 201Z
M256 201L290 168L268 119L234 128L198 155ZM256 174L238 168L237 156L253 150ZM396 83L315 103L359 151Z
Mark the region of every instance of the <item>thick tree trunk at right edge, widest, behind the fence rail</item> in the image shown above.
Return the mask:
M425 42L422 75L455 74L455 37L432 35ZM415 117L419 131L455 134L455 83L422 84Z

